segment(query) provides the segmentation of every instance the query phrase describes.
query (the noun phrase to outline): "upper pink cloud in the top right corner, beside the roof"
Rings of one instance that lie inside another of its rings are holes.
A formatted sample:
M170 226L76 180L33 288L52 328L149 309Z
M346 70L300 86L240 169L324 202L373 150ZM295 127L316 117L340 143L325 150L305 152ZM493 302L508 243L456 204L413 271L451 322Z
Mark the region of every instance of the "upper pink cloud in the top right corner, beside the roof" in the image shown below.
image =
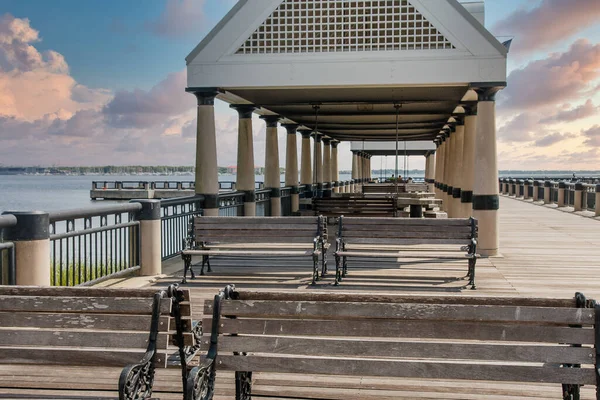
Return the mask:
M492 31L515 36L511 52L545 49L592 26L600 19L598 0L543 0L530 10L519 9L498 21Z

